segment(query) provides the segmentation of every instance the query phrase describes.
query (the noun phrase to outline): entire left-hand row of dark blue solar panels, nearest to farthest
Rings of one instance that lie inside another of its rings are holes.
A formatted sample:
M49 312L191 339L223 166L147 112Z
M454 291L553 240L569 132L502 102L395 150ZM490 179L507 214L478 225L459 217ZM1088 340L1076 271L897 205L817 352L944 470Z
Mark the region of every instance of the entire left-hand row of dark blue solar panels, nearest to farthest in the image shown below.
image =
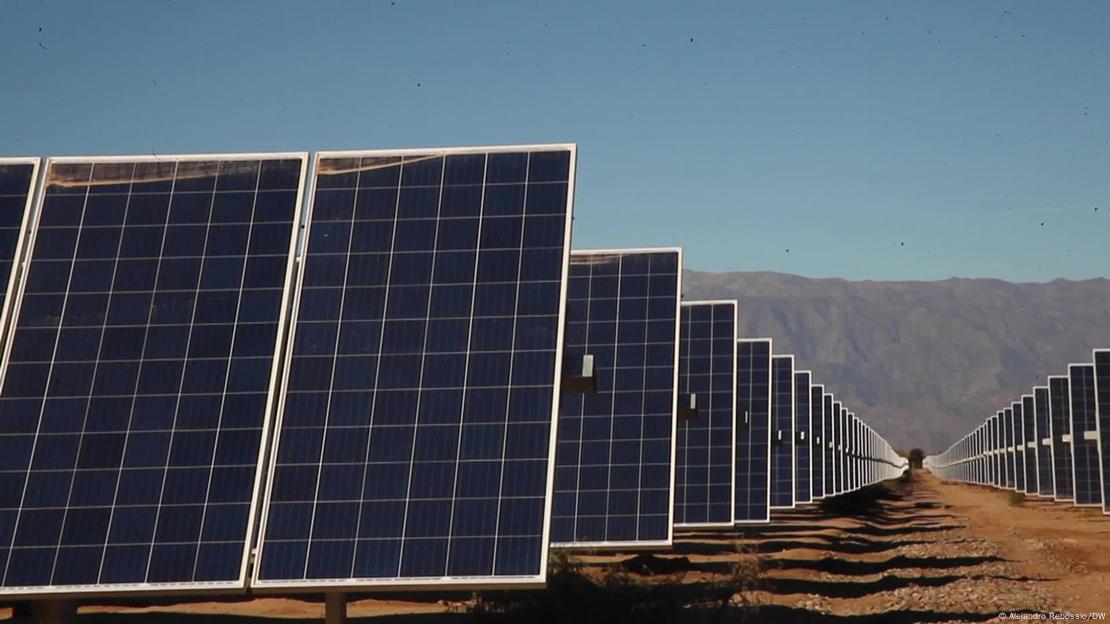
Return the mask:
M574 163L0 163L0 593L539 584L898 470L679 250L571 253Z

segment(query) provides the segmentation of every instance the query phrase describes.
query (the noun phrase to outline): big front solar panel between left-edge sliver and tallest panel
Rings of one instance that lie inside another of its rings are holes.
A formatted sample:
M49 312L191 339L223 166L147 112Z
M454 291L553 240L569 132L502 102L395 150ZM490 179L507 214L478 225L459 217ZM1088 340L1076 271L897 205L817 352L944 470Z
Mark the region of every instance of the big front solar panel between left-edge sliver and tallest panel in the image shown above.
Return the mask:
M305 154L51 159L3 363L3 592L243 587Z

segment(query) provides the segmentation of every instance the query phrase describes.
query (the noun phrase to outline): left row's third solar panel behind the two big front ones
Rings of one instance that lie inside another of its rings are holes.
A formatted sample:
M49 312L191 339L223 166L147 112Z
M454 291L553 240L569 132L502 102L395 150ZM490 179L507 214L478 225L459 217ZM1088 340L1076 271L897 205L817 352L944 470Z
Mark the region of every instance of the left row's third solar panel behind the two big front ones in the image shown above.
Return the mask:
M737 523L770 520L770 339L736 343Z

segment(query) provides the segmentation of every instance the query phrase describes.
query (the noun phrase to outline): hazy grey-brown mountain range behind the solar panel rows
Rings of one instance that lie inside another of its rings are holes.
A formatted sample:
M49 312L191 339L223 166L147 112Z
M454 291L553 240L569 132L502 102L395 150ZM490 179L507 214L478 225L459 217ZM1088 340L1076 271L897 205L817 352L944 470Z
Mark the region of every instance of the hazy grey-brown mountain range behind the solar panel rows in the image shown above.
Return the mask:
M1068 363L1110 346L1110 280L852 282L686 271L687 301L737 299L740 335L794 353L891 444L944 450Z

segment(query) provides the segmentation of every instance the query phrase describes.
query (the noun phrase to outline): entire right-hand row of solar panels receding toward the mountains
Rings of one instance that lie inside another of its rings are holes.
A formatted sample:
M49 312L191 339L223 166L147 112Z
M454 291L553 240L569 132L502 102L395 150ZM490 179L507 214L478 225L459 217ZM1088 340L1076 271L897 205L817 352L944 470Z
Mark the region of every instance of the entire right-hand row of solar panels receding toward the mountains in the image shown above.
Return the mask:
M944 479L1013 490L1110 514L1110 349L1070 364L948 450L925 459Z

